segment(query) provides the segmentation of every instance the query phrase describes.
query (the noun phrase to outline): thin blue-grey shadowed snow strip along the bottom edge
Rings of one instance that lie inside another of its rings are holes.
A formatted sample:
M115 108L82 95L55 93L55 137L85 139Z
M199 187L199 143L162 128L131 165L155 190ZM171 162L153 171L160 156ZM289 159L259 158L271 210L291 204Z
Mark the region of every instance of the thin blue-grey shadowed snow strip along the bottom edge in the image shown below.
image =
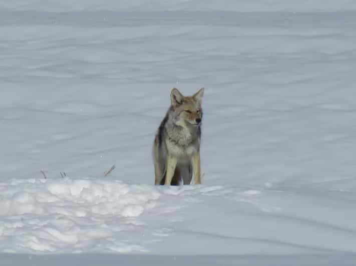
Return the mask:
M121 254L0 254L1 266L124 266L124 265L254 265L354 266L356 253L315 255L121 255Z

